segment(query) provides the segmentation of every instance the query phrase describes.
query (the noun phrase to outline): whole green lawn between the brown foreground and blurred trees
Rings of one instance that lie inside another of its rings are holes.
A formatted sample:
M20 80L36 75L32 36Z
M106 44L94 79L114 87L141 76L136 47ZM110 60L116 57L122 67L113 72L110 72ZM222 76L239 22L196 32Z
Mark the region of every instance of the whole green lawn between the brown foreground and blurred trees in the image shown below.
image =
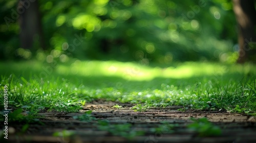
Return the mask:
M32 60L0 62L0 67L0 93L4 95L4 86L8 86L9 109L77 112L84 104L104 100L135 103L137 111L168 105L256 111L256 67L252 64L144 66L136 62L70 60L49 64ZM2 96L1 103L3 100Z

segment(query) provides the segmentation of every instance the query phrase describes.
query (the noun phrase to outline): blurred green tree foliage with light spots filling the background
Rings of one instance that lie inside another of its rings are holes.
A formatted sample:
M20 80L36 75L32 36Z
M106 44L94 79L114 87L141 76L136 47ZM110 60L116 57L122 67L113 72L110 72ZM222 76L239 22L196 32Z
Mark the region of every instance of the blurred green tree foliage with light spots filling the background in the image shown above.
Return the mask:
M136 60L142 64L150 60L235 62L238 58L238 28L230 0L38 3L44 50L63 62L68 57ZM47 60L39 44L40 36L33 37L30 49L20 45L18 22L22 13L17 11L18 2L2 0L0 4L4 19L0 23L1 59Z

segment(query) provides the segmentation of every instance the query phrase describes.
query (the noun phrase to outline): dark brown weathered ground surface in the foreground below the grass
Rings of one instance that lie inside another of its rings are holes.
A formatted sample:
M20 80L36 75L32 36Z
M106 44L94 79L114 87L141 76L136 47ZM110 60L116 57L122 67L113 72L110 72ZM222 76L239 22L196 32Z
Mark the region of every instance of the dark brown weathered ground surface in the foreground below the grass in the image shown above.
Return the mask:
M41 112L40 124L29 124L26 131L22 129L24 124L13 125L4 142L256 142L255 116L177 110L181 106L134 112L132 104L118 103L120 109L113 107L116 104L95 102L87 104L79 113ZM74 118L88 110L93 111L89 119ZM191 117L207 117L212 127L221 129L221 135L200 137L197 131L187 128L193 123Z

